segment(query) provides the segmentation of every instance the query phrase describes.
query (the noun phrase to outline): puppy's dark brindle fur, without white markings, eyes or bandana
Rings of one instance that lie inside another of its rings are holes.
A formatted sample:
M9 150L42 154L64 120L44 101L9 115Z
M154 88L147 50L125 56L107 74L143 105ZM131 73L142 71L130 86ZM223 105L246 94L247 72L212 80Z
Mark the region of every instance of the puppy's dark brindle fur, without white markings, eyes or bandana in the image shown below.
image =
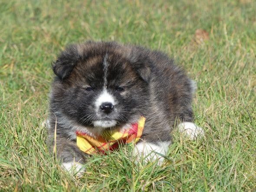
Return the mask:
M111 114L120 127L143 115L146 123L141 139L151 143L171 141L175 120L193 120L193 85L174 61L159 51L116 42L85 42L70 45L53 63L49 110L49 145L56 147L64 163L84 163L86 155L76 147L77 127L93 130L94 100L103 86L103 60L107 55L107 90L118 101ZM125 88L120 93L118 86ZM91 86L93 91L86 91ZM112 127L115 129L117 127Z

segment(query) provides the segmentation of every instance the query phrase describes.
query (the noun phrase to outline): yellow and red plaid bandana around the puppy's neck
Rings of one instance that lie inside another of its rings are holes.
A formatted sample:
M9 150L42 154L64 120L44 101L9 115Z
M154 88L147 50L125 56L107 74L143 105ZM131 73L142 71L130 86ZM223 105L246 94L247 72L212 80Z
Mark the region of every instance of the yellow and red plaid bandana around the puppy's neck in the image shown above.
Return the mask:
M107 150L117 148L120 143L137 143L141 138L145 120L144 117L141 117L138 123L132 124L131 128L126 129L124 132L105 130L102 132L102 135L97 138L77 131L76 145L87 154L95 154L97 152L105 154Z

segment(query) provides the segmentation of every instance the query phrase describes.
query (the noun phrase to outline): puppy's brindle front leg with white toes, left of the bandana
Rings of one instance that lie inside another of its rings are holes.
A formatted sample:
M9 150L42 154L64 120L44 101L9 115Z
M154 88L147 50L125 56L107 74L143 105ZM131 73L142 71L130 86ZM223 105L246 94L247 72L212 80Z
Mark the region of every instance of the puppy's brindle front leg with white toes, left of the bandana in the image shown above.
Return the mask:
M56 145L56 146L55 146ZM85 171L82 164L86 161L85 153L79 150L74 141L67 140L63 137L56 138L51 142L51 149L56 148L57 158L62 160L62 167L70 173L81 176Z

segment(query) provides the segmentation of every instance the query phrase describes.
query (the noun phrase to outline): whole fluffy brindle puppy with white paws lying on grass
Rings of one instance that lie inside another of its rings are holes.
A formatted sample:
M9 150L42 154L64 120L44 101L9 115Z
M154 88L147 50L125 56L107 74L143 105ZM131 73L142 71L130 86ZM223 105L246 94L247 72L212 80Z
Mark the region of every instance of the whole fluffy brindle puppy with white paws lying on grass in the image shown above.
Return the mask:
M106 132L121 134L118 144L129 137L137 158L159 164L163 157L158 154L167 153L177 122L192 139L203 133L192 123L194 81L162 52L90 41L68 46L53 72L48 141L67 170L81 173L89 154L118 146L104 140Z

